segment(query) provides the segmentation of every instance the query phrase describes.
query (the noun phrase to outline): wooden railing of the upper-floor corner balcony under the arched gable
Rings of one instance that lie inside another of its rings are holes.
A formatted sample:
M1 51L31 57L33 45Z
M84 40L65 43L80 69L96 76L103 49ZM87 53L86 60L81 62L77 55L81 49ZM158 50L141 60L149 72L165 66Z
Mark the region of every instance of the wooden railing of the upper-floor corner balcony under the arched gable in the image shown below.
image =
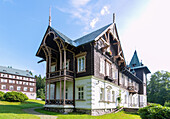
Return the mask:
M64 70L58 70L55 72L50 72L48 74L50 74L50 75L47 75L47 78L60 77L60 76L64 76ZM74 72L70 71L70 70L66 70L66 76L73 77Z

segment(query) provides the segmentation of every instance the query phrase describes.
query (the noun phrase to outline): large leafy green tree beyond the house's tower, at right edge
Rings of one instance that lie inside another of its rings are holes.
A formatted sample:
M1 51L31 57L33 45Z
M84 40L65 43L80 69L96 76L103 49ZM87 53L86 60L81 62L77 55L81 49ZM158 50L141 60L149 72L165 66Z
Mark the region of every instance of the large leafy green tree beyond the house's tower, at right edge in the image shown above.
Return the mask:
M147 85L148 102L164 105L170 100L170 72L157 71Z

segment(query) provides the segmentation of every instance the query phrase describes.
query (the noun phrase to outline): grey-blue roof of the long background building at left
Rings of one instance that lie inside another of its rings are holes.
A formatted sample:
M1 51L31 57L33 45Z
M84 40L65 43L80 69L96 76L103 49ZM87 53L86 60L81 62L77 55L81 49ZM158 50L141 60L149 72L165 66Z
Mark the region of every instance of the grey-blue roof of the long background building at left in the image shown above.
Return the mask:
M33 77L28 71L20 70L20 69L14 69L12 67L0 66L0 72L6 73L6 74L20 75L20 76L25 76L25 77Z

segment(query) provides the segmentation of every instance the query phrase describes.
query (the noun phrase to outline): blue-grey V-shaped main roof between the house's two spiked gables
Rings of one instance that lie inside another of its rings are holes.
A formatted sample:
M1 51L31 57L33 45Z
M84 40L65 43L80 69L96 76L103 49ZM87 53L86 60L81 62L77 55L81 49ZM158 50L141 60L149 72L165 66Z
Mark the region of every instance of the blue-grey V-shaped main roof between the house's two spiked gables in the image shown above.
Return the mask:
M111 23L112 24L112 23ZM104 32L111 24L108 24L96 31L93 31L81 38L78 38L76 40L72 40L70 38L68 38L67 36L65 36L64 34L62 34L61 32L59 32L58 30L54 29L53 27L50 26L50 28L63 40L65 41L66 43L72 45L72 46L75 46L75 47L78 47L80 45L83 45L83 44L86 44L86 43L89 43L89 42L92 42L95 40L95 38L97 36L99 36L102 32Z

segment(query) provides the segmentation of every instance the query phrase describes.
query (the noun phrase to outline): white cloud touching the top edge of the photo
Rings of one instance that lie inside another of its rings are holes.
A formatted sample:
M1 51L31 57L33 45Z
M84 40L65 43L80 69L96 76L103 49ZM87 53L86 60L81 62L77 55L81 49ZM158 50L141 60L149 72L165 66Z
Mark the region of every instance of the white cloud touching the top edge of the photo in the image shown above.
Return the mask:
M90 0L71 0L71 4L74 7L81 7L86 5Z

